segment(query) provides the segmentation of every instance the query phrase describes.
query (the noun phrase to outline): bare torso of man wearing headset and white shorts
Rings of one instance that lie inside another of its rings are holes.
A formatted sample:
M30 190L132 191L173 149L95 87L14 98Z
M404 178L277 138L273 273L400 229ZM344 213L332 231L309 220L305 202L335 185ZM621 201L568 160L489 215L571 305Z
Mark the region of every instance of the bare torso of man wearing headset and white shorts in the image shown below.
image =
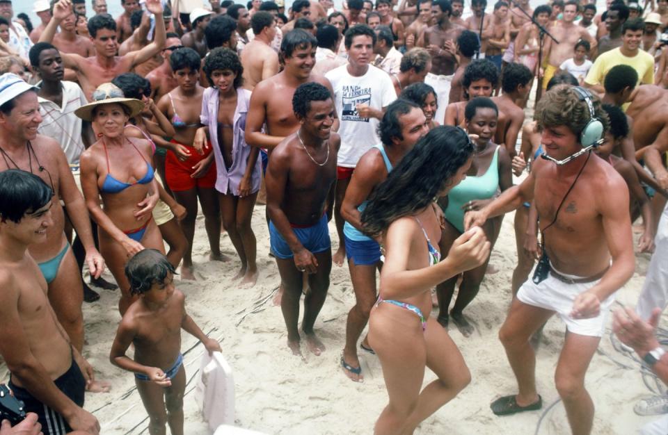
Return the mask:
M567 174L559 170L563 167L540 159L534 162L532 171L534 202L541 227L546 227L555 219L559 203L584 165L555 224L544 233L550 263L561 272L579 277L592 277L610 266L610 249L601 221L603 208L609 208L612 202L628 209L628 188L614 167L594 153L585 165L586 159L587 156L581 156L567 163Z

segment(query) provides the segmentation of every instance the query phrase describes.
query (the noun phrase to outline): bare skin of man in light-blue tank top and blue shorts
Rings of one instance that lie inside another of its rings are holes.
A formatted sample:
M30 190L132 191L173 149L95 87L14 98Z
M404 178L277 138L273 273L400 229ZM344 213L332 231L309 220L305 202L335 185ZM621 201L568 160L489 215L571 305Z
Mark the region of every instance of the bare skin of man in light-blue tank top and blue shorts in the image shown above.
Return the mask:
M385 146L385 153L395 167L401 158L413 148L415 142L429 131L427 118L421 108L413 108L406 115L399 116L402 139L393 138L390 146ZM355 172L346 190L346 196L341 204L341 216L358 230L362 230L361 213L358 206L371 195L372 190L388 178L388 170L381 151L369 149L355 167ZM355 305L348 313L346 323L346 345L343 350L344 362L351 367L359 367L357 355L357 340L369 320L374 302L376 302L376 269L381 268L381 262L376 265L356 265L353 258L349 258L353 290L355 290ZM364 340L363 340L364 341ZM369 347L366 344L366 347ZM344 373L353 381L362 381L363 376L344 370Z

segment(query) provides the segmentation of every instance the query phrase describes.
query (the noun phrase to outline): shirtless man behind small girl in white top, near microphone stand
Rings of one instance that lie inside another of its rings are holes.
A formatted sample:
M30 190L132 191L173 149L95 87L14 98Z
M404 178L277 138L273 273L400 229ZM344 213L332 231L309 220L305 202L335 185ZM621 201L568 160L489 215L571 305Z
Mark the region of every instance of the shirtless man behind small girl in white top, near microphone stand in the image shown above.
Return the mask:
M575 15L578 15L578 4L575 0L567 1L564 6L564 17L548 29L555 39L559 41L559 44L555 44L551 38L546 38L545 47L543 48L543 58L548 59L548 66L543 75L543 89L548 88L548 81L555 75L555 72L559 69L559 65L562 65L564 60L573 57L573 49L578 40L583 39L589 42L591 52L594 52L594 49L596 49L596 40L591 38L587 29L573 24Z

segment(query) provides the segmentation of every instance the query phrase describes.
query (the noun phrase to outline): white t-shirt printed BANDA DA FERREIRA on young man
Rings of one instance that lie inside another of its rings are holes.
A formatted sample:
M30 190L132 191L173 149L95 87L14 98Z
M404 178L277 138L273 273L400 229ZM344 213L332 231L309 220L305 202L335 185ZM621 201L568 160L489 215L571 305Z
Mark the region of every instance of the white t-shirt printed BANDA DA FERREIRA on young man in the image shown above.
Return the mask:
M369 65L363 76L351 76L348 65L342 65L325 74L332 83L334 104L341 126L341 148L337 165L356 167L363 154L381 141L376 129L379 120L360 117L357 114L358 104L381 109L397 99L395 86L390 76L382 69Z

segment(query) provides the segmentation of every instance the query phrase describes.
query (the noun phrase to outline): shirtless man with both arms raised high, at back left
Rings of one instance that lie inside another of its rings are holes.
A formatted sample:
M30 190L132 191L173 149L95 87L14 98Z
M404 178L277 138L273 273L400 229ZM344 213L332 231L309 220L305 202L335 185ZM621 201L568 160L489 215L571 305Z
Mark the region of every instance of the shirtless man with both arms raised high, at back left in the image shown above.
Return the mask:
M127 2L132 0L127 0ZM49 22L40 37L41 42L51 42L56 33L56 27L70 14L70 0L60 0L54 6L54 17ZM162 4L160 0L146 0L147 10L154 14L155 35L153 42L139 51L130 51L125 56L116 56L118 42L116 41L116 22L111 15L95 15L88 22L90 37L93 38L95 56L84 58L78 54L61 53L63 65L77 72L77 80L84 90L86 98L90 100L93 91L102 83L110 82L114 77L124 72L130 72L134 67L144 63L156 54L165 45L165 22L162 19Z

